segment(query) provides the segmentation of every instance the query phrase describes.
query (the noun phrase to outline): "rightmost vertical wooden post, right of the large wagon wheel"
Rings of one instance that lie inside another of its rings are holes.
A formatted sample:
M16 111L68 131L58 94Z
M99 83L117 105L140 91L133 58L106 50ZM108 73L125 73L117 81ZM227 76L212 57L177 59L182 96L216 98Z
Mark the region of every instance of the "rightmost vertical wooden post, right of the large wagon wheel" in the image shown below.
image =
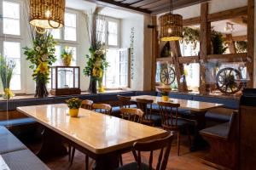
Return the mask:
M253 88L254 80L254 0L247 0L247 88Z

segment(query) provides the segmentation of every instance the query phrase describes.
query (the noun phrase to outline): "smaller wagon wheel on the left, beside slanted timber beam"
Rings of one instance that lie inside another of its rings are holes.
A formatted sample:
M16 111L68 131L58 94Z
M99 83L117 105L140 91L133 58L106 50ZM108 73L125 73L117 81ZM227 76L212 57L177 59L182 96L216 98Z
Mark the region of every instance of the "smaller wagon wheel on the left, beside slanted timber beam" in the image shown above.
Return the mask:
M165 85L171 85L175 81L175 71L171 66L160 71L160 81Z

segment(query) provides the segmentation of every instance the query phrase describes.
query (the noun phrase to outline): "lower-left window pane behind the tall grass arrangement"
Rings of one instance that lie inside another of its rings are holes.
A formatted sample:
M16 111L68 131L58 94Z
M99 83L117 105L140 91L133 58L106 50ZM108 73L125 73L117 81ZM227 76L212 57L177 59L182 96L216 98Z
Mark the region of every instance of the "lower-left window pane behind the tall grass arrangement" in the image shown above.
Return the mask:
M12 90L21 90L21 77L20 77L20 42L3 42L3 56L7 60L15 62L14 75L10 82Z

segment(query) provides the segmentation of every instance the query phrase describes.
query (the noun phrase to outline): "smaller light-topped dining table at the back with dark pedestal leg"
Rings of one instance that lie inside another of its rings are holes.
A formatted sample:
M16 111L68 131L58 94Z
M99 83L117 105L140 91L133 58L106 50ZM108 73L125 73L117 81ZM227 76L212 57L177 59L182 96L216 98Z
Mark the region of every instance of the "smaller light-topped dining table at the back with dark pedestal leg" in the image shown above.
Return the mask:
M159 96L141 95L132 96L131 101L136 102L136 99L149 99L153 100L153 105L157 105L158 102L163 102L162 98ZM173 99L169 98L169 103L179 104L181 109L188 110L191 113L191 119L196 121L195 125L195 138L193 139L191 151L199 150L203 148L207 143L202 139L199 131L206 127L206 113L208 110L218 107L223 107L223 104L188 100L188 99Z

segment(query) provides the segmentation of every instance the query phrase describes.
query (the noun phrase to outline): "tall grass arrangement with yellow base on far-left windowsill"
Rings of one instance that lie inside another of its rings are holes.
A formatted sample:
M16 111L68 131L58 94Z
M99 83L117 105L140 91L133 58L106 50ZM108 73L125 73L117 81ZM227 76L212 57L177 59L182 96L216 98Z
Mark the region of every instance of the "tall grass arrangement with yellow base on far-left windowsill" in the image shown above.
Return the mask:
M3 98L10 99L14 97L15 94L9 88L10 81L15 70L15 62L13 60L7 60L0 54L0 77L3 83Z

